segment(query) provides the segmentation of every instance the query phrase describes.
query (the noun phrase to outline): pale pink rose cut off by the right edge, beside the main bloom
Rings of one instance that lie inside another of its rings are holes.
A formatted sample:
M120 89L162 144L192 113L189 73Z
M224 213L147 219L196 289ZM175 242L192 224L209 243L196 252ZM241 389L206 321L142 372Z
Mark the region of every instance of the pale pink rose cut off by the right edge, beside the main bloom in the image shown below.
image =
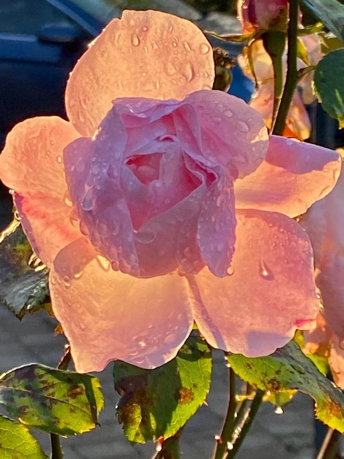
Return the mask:
M301 219L314 247L316 284L324 311L317 327L305 334L307 352L329 356L336 384L344 389L344 174L334 190Z

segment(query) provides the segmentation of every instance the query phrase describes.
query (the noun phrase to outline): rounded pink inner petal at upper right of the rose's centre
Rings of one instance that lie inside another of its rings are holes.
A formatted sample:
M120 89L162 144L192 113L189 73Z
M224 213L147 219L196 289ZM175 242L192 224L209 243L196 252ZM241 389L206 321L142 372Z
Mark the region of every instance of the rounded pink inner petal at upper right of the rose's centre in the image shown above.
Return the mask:
M231 175L243 177L253 172L262 162L268 148L268 133L263 121L255 110L245 102L223 91L197 91L186 97L184 103L190 104L197 118L180 116L178 118L178 139L188 154L196 161L206 165L229 165ZM190 135L193 127L195 142L202 145L201 154L196 150ZM197 134L196 130L199 129ZM178 129L179 128L179 129Z

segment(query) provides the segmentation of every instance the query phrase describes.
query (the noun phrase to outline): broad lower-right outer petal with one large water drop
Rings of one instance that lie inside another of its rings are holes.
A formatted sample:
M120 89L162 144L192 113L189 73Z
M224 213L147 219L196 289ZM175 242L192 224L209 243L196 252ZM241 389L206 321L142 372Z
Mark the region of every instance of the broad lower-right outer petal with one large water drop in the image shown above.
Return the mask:
M236 217L231 275L204 268L194 277L194 317L210 345L268 355L293 338L299 323L314 325L319 299L311 245L284 215L247 210Z

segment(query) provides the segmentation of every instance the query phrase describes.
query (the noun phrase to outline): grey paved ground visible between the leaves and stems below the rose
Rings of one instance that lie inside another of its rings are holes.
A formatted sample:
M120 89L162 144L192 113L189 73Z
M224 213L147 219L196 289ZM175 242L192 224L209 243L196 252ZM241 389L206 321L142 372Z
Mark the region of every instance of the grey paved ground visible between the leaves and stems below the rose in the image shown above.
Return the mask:
M54 337L56 322L45 313L24 317L19 322L0 308L0 372L15 366L38 362L56 366L63 352L63 336ZM118 395L113 388L111 365L98 374L105 397L100 415L101 428L82 436L63 439L65 459L149 459L154 445L132 447L124 438L115 418ZM222 354L215 355L213 384L207 399L184 430L181 445L185 459L210 459L214 436L219 432L227 404L227 369ZM40 443L49 452L49 438L39 433ZM238 459L312 459L312 402L301 394L283 415L264 404Z

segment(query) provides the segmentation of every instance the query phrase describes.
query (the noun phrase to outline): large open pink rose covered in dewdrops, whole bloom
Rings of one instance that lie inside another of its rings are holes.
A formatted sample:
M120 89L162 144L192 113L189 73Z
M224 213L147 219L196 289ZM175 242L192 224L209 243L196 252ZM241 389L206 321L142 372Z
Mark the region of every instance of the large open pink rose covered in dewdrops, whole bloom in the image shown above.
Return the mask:
M0 175L51 269L77 371L160 366L194 320L249 356L314 325L312 249L290 217L331 191L338 155L269 141L213 80L194 24L125 11L72 71L70 121L25 120L7 137Z

